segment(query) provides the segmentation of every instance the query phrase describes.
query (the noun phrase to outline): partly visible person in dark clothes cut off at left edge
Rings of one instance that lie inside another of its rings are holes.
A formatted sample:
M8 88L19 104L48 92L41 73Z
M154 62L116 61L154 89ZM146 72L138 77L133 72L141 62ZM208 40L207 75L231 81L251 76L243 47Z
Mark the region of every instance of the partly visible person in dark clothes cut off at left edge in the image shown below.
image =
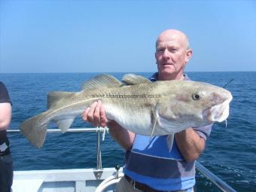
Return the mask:
M0 191L11 191L13 168L6 130L11 123L11 100L5 84L0 82Z

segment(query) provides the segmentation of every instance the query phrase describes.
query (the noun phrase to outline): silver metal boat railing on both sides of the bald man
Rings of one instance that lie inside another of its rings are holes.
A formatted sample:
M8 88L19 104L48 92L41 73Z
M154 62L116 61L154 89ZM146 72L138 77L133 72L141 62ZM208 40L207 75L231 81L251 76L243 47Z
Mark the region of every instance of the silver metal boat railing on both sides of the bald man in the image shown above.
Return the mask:
M96 154L97 154L97 166L96 170L102 170L102 155L100 150L100 137L101 133L103 133L103 138L105 137L105 132L108 132L108 128L103 127L97 127L97 128L71 128L67 130L68 133L81 133L81 132L96 132L97 133L97 142L96 142ZM20 130L8 130L8 133L20 133ZM50 129L47 130L47 133L62 133L59 129ZM221 178L218 178L217 175L213 174L209 169L206 169L205 166L203 166L201 163L196 161L196 169L201 172L206 178L208 178L210 181L212 181L213 184L218 187L219 190L224 192L236 192L230 185L225 183L221 180Z

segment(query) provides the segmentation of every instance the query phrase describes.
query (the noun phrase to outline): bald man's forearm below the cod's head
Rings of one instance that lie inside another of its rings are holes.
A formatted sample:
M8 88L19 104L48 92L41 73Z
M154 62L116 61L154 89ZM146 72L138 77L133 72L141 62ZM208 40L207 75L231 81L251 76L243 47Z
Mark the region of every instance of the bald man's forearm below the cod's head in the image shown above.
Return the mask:
M175 133L175 141L187 161L197 160L205 148L205 139L201 138L192 128Z

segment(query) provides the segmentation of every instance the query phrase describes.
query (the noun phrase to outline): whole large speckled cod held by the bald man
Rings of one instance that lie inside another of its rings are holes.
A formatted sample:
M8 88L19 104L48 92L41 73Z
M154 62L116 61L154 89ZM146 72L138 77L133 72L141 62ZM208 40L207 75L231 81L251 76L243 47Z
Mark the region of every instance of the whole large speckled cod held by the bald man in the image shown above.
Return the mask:
M86 81L79 92L48 93L47 111L25 120L20 130L41 148L50 123L65 133L85 108L101 100L109 120L140 135L168 135L172 148L175 133L227 120L232 99L229 90L199 81L151 82L135 74L119 81L102 74Z

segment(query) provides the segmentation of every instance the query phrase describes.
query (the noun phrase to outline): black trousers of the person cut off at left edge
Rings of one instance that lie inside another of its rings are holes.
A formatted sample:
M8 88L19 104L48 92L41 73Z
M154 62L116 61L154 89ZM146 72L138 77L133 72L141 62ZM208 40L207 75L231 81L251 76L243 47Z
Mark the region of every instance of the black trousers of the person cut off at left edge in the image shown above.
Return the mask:
M0 192L10 192L14 172L11 154L0 157Z

